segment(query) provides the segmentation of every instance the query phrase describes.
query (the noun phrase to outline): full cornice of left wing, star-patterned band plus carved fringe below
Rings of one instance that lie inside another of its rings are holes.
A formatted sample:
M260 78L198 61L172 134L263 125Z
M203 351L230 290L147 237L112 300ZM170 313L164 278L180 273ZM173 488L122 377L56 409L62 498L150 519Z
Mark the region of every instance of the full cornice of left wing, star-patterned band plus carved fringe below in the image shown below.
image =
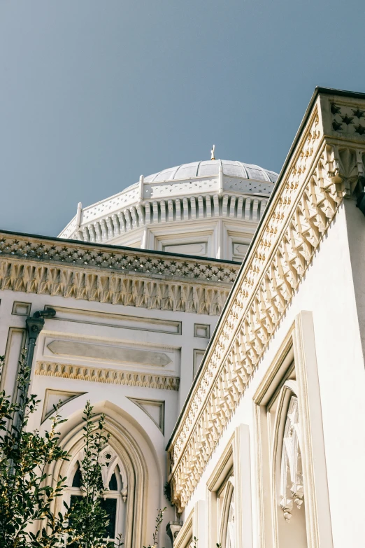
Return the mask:
M240 265L0 234L0 289L218 316Z

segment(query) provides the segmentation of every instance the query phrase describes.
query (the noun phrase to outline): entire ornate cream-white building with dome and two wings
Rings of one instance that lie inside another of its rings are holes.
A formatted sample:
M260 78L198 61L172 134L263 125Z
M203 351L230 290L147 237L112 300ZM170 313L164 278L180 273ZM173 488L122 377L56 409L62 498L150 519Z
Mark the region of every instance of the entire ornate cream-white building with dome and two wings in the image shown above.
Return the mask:
M364 171L365 94L317 88L278 178L194 162L59 238L1 233L0 388L45 311L32 426L62 400L70 501L86 400L106 414L110 538L147 544L169 505L174 548L364 545Z

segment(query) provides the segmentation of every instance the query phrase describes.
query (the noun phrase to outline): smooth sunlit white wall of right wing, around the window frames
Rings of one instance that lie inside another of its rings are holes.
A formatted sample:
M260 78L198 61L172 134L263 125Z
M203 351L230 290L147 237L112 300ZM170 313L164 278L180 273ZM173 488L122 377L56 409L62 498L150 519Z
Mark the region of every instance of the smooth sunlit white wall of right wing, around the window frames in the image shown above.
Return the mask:
M359 262L362 264L364 260L364 247L362 237L357 246L352 243L349 247L346 215L352 232L355 223L357 234L364 234L365 218L355 209L355 202L342 205L185 508L187 517L197 501L206 500L206 483L224 447L235 428L241 423L247 424L250 429L254 547L259 546L259 526L252 397L296 314L303 310L313 312L334 548L364 546L365 521L359 497L365 488L365 372L357 311L359 298L355 300L352 278L353 265L357 269L357 283L364 280L364 269L359 268ZM350 249L359 254L360 248L362 258L359 255L357 260L353 258L351 265ZM363 323L362 315L360 318ZM311 420L320 420L320 417ZM199 548L204 547L199 545Z

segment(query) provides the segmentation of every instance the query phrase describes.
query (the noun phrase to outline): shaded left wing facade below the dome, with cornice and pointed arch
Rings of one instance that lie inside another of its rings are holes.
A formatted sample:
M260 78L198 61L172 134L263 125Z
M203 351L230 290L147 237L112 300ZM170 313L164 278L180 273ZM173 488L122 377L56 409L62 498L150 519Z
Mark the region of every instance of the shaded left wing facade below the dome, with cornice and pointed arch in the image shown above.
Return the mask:
M0 234L0 389L14 393L27 317L51 307L56 316L36 342L31 391L41 404L31 427L49 428L53 405L64 402L62 444L72 458L53 472L69 477L69 502L80 491L73 478L86 401L106 414L111 437L103 454L115 456L118 486L108 497L117 501L115 535L127 547L148 545L156 508L166 506L166 444L239 267ZM175 519L172 507L168 519Z

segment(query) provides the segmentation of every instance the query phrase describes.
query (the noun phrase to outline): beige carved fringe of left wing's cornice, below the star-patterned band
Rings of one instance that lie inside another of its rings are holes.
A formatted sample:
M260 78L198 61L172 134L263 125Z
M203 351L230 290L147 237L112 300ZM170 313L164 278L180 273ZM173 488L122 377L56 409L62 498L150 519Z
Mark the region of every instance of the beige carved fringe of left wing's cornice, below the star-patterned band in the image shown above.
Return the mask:
M220 315L229 294L225 282L218 288L198 279L171 281L10 258L0 260L0 289L211 316Z

